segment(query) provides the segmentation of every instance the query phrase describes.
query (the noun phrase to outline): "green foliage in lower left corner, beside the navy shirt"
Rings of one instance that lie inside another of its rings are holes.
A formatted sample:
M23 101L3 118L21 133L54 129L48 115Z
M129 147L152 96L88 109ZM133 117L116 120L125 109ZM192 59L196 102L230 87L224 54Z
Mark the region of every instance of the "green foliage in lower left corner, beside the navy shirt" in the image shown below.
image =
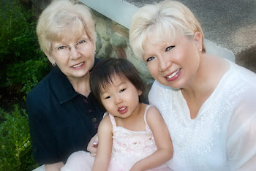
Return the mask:
M28 116L15 104L12 113L0 108L0 170L33 170L38 167L31 154Z

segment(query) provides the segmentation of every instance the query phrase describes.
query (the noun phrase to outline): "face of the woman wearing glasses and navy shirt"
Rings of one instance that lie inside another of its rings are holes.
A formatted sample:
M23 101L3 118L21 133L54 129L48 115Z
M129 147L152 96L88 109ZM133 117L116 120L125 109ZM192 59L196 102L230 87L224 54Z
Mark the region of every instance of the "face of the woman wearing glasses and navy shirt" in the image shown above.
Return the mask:
M81 43L84 46L82 49L75 46ZM70 52L67 55L57 52L68 46L70 46ZM89 75L89 71L94 65L95 45L86 34L72 39L63 39L61 42L53 42L51 47L51 54L47 54L49 61L52 64L56 63L69 80Z

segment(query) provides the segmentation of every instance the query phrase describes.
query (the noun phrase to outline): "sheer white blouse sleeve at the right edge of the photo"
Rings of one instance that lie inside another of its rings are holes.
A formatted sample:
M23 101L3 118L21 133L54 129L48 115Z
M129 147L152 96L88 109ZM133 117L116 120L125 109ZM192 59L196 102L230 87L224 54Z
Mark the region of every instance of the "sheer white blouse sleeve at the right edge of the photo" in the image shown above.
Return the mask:
M227 132L230 170L256 170L256 94L243 96L239 97Z

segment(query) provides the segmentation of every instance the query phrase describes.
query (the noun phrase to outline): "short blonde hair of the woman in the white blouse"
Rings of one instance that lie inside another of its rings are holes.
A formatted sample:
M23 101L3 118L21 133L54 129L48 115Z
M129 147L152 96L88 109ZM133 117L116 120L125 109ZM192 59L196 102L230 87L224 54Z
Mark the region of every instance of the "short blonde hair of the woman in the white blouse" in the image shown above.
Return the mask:
M147 45L172 42L177 34L192 39L196 31L203 37L200 23L190 9L181 2L166 0L138 9L129 28L129 43L135 55L143 59ZM202 48L206 52L203 42Z

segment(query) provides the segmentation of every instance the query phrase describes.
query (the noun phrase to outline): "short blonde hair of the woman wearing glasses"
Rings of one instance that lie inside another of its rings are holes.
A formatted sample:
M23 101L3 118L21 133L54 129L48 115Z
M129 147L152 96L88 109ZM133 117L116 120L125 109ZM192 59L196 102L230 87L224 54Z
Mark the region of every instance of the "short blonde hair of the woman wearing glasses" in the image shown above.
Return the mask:
M41 49L50 54L51 43L87 34L96 42L96 31L91 11L75 0L53 0L39 16L37 37Z

